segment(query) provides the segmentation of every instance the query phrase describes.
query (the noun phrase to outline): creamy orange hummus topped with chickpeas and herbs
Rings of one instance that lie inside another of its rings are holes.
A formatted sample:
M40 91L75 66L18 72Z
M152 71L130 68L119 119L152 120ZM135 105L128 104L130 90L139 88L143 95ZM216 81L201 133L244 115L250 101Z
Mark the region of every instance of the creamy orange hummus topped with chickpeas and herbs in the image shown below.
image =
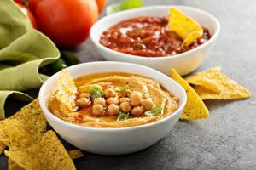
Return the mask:
M139 75L107 72L79 77L74 82L79 92L76 111L67 111L54 96L49 98L49 111L66 122L84 127L132 127L156 122L171 115L179 105L179 99L159 82ZM100 92L92 93L91 87Z

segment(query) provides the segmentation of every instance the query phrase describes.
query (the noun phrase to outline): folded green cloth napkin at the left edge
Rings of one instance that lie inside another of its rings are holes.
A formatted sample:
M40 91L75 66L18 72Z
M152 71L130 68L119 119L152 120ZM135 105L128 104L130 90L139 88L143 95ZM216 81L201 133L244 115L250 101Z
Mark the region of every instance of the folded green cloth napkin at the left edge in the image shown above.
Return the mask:
M47 76L38 72L60 57L48 37L32 29L30 20L12 0L0 0L0 119L6 99L30 101L24 92L40 88Z

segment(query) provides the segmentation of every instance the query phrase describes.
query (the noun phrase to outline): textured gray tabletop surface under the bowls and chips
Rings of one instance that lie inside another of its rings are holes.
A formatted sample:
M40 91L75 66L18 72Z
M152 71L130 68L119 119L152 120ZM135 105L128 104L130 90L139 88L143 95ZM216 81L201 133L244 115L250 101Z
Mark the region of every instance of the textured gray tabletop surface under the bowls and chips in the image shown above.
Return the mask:
M109 3L113 3L111 1ZM144 0L145 5L179 4L202 8L220 20L215 48L198 71L221 66L253 94L240 101L207 102L210 117L177 125L152 147L126 156L84 153L78 169L256 169L256 1ZM102 60L90 41L78 48L82 61ZM67 146L68 148L71 146ZM6 161L0 158L0 169Z

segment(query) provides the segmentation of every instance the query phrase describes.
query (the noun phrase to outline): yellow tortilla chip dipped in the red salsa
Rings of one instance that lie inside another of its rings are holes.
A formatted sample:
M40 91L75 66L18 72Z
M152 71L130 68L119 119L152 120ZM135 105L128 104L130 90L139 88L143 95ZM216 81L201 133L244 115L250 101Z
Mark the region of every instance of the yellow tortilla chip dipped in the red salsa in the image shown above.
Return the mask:
M189 46L203 35L202 27L177 8L170 8L169 26L172 31L175 31L179 37L183 38L184 46Z

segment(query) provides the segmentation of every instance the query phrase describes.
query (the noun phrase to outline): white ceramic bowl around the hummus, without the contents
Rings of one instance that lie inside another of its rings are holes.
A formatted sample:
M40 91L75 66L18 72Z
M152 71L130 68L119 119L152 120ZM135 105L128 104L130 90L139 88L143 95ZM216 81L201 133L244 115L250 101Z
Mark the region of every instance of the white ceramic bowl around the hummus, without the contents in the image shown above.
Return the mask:
M68 143L73 144L81 150L86 150L92 153L117 155L147 148L164 138L166 133L172 129L181 115L183 107L187 101L185 91L177 82L159 71L155 71L154 69L143 65L108 61L91 62L73 65L68 67L67 71L74 78L106 71L136 73L159 81L166 90L172 92L172 94L180 99L180 105L177 111L158 122L142 126L122 128L82 127L62 121L60 118L49 112L46 101L49 95L55 90L59 72L52 77L49 77L49 79L44 82L39 92L39 102L44 111L44 116L50 126L55 129L55 132L59 133Z

